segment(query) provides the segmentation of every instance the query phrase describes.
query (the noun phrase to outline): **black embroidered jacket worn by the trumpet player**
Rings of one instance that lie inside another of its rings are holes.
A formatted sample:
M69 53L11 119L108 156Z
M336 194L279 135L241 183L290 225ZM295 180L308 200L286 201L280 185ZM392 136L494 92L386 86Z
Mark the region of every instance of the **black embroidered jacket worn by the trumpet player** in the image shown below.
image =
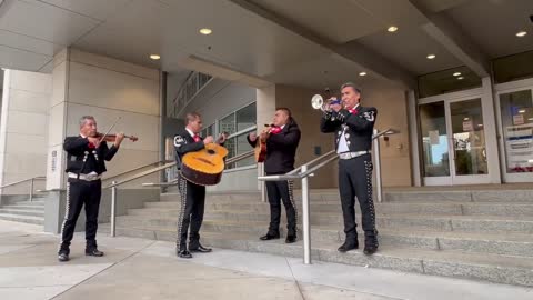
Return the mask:
M322 132L335 132L335 149L339 148L342 133L346 139L350 152L370 151L372 149L372 134L378 110L359 106L358 113L352 114L345 109L339 112L325 113L320 122Z

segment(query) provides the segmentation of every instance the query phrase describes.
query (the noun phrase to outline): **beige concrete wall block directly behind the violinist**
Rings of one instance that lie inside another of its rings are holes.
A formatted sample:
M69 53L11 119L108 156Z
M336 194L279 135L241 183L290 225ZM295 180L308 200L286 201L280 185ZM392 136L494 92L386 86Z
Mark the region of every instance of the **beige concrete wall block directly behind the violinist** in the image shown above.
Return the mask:
M78 120L92 114L99 131L105 132L121 117L111 133L123 131L139 141L124 140L108 163L107 177L159 160L159 71L120 60L64 49L54 57L50 106L47 188L63 188L62 142L79 133ZM158 180L153 176L148 181Z

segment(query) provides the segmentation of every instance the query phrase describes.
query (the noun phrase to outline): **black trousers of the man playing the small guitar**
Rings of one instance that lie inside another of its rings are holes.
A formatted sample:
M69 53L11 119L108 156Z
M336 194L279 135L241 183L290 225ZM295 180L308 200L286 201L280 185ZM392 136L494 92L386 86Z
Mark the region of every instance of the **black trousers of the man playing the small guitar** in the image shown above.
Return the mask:
M269 233L280 232L281 201L286 211L286 229L289 234L296 234L298 209L292 196L292 181L266 181L266 193L270 204Z

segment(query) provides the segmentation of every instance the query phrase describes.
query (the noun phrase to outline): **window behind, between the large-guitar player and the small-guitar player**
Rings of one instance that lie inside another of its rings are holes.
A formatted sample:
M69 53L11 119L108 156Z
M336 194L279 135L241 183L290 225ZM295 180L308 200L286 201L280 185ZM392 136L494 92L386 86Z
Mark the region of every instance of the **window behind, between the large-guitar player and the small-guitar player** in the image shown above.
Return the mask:
M247 136L255 130L255 102L230 113L219 121L219 132L228 132L230 134L230 138L224 144L229 152L228 158L252 150L248 143ZM227 168L233 169L252 166L254 163L255 161L253 157L250 157L235 163L231 163L227 166Z

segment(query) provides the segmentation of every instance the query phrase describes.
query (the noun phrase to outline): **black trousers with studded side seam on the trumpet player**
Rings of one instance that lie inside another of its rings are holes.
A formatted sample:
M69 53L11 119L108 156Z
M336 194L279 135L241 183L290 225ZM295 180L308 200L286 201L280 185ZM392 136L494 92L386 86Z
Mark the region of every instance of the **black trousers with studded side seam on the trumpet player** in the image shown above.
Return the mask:
M362 212L365 239L375 240L375 211L372 199L372 158L370 154L339 160L339 191L341 194L344 233L346 241L355 242L358 231L355 223L355 197Z

